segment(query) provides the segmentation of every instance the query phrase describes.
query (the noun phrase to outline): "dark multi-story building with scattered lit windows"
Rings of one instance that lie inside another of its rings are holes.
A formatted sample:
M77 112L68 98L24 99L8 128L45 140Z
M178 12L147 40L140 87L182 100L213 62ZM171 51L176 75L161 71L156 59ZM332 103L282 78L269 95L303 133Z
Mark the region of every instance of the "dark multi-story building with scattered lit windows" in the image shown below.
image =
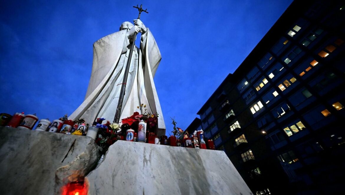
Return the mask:
M254 194L342 191L344 5L294 1L197 113Z

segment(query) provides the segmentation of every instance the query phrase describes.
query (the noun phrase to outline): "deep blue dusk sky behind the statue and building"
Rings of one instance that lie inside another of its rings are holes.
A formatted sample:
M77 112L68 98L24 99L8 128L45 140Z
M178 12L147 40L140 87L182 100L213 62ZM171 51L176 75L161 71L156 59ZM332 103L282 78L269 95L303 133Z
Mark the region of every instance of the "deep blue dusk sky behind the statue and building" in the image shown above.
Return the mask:
M292 0L0 1L0 112L54 120L84 100L92 44L138 17L162 60L154 78L167 132L186 129Z

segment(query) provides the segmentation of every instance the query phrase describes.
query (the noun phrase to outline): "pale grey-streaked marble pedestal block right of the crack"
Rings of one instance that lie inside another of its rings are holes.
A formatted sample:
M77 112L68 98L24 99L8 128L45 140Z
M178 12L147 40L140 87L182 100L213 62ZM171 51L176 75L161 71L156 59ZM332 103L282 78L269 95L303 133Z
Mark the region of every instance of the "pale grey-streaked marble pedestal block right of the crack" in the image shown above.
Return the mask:
M252 194L225 152L117 141L87 175L89 194Z

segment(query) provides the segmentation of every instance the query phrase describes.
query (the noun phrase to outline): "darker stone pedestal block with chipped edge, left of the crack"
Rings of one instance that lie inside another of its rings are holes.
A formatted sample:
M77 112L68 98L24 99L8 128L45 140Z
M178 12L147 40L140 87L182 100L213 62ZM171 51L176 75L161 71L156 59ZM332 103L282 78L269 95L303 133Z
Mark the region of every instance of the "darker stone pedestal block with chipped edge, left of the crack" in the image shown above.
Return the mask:
M60 194L97 164L92 138L0 127L0 194Z

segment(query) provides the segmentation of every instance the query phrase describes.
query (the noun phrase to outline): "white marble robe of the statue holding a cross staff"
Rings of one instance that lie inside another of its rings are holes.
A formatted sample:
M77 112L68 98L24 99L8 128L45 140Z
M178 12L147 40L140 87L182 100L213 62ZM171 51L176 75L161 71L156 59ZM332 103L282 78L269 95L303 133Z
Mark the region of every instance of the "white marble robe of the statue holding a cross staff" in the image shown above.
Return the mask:
M96 118L114 120L122 80L131 44L127 30L110 34L93 44L93 64L89 87L82 104L69 119L84 118L92 123ZM121 119L127 118L137 106L146 105L147 112L158 113L158 136L165 135L165 123L153 77L161 60L157 43L150 32L141 35L140 50L135 47L122 104ZM143 110L144 111L144 110Z

